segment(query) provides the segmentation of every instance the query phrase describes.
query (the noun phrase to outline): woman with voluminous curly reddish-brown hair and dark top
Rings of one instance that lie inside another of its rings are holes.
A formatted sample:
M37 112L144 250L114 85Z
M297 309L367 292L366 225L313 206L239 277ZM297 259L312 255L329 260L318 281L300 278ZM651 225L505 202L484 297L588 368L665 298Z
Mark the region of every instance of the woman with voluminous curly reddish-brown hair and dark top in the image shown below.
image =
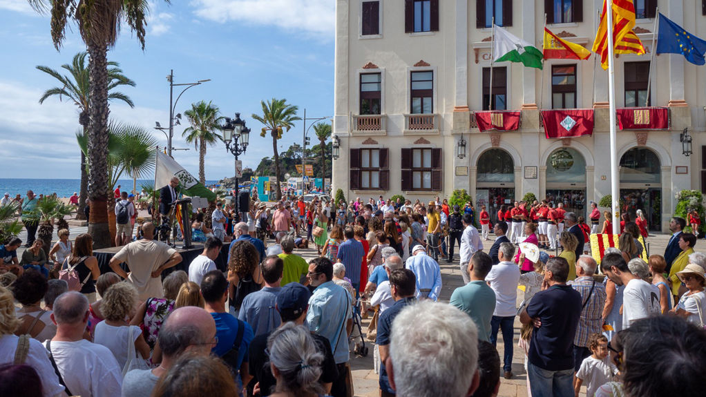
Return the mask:
M258 250L249 241L237 240L230 245L228 295L230 306L236 313L246 295L260 291L265 285L265 279L258 266L258 257Z

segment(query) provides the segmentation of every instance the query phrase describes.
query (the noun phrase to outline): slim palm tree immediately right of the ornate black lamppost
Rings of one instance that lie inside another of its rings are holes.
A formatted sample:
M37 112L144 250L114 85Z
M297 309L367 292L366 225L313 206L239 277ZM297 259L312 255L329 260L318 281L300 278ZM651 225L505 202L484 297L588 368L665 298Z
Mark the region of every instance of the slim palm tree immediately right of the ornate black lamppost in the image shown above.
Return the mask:
M287 99L275 99L265 103L261 101L260 104L263 106L262 116L253 114L252 118L263 123L263 127L260 136L264 137L267 135L267 131L270 130L270 135L272 135L272 148L275 154L275 191L277 192L277 200L282 200L282 189L280 188L280 154L277 152L277 140L282 139L283 130L289 131L294 126L294 121L301 120L301 117L297 117L298 106L287 104Z

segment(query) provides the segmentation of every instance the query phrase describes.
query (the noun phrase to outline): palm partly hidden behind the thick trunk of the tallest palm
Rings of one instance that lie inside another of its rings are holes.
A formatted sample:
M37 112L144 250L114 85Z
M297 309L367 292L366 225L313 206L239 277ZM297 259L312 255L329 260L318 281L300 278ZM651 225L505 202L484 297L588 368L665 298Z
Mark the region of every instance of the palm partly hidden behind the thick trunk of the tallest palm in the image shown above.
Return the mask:
M53 97L54 95L59 95L60 101L63 100L64 97L68 98L68 101L78 106L78 123L83 127L84 131L88 130L88 87L90 85L88 67L85 62L86 55L88 54L86 54L85 51L79 52L73 56L71 64L65 63L61 65L61 68L68 71L68 75L61 75L59 71L49 68L49 66L37 66L37 69L51 75L61 83L61 87L54 87L44 91L44 94L40 97L40 104L44 103L44 99ZM108 62L108 66L108 78L110 80L108 90L113 90L120 85L135 87L135 82L123 75L123 71L121 71L117 62ZM135 107L132 99L122 92L109 92L108 99L119 99L130 107ZM78 195L76 219L84 218L83 207L85 207L86 196L88 195L88 172L86 171L85 162L85 154L81 152L81 185Z

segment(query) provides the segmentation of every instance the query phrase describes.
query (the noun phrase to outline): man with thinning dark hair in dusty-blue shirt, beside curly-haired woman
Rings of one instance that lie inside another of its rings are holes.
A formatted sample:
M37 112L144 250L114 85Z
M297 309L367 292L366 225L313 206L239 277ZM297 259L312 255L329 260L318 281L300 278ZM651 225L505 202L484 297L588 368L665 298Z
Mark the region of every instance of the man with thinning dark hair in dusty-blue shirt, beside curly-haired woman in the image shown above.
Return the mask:
M282 322L275 303L282 289L280 281L285 261L277 255L270 255L263 260L261 269L265 286L246 295L238 312L238 319L250 324L255 336L270 333Z

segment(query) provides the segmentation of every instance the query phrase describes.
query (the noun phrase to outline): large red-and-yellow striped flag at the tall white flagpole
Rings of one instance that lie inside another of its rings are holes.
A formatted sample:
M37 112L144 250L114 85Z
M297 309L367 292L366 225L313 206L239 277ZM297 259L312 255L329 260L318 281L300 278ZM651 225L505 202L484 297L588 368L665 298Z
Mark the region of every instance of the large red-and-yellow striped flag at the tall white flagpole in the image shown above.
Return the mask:
M613 10L613 43L616 54L645 54L645 47L633 28L635 27L635 5L633 0L604 0L601 23L593 42L593 51L601 56L601 66L608 68L608 21L606 9L608 1Z

